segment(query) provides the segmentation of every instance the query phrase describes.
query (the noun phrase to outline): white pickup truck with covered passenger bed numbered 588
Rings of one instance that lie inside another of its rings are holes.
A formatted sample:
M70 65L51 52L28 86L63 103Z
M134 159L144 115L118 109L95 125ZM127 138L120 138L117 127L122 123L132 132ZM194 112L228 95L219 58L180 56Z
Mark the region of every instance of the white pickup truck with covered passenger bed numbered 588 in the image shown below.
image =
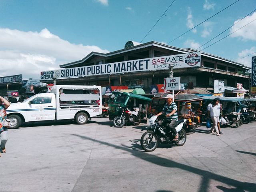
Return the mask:
M86 124L88 118L102 113L101 86L55 85L49 93L10 104L6 112L10 128L45 120L74 119L77 124Z

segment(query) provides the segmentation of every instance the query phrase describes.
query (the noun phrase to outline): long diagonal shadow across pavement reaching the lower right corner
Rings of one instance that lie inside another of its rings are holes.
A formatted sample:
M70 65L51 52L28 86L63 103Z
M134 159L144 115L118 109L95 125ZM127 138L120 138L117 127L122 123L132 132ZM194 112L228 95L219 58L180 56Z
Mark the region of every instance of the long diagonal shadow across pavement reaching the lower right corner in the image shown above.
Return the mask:
M235 179L231 179L231 178L216 174L214 172L195 168L195 167L189 166L187 164L178 163L178 162L172 161L167 158L162 158L162 157L150 154L148 152L147 153L145 152L142 155L142 153L138 152L137 150L132 150L132 149L130 149L130 147L125 146L125 145L117 146L117 145L114 145L114 144L111 144L108 142L95 140L94 138L89 138L89 137L78 135L78 134L70 134L70 135L80 137L81 139L84 139L84 140L91 140L94 142L98 142L100 144L107 145L107 146L117 148L117 149L121 149L126 152L130 152L133 156L140 158L142 160L151 162L158 166L164 166L164 167L169 167L169 168L178 168L181 170L185 170L185 171L200 175L202 177L202 180L201 180L200 188L198 189L198 192L208 191L208 186L209 186L210 180L216 180L218 182L225 183L229 186L234 186L236 188L236 192L243 192L242 190L239 190L240 188L242 188L243 190L246 190L248 192L255 192L255 188L256 188L255 183L241 182L241 181L238 181ZM82 178L80 178L80 180L82 180ZM229 192L228 190L230 190L230 189L227 189L227 192ZM233 189L231 189L231 190L233 190Z

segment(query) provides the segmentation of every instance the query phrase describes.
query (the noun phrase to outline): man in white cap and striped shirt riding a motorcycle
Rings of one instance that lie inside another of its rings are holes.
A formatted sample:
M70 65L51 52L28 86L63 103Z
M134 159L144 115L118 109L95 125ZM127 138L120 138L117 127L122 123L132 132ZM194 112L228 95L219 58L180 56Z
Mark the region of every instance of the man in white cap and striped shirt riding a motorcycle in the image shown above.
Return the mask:
M177 134L177 131L175 127L178 124L178 112L177 112L177 105L174 100L174 96L172 94L166 95L166 104L164 105L164 108L162 109L162 112L156 114L156 116L160 116L163 113L166 114L166 120L165 120L165 127L167 128L167 134L170 134L172 132L174 135L174 141L178 140L179 135Z

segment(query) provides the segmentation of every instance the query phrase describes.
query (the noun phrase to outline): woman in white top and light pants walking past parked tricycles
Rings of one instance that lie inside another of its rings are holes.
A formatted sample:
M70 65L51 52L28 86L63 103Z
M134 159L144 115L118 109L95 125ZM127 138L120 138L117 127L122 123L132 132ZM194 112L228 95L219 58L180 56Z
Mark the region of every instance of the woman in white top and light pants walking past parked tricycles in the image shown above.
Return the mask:
M221 104L219 104L219 101L220 101L220 98L217 97L214 100L212 100L212 103L208 104L207 106L207 112L208 112L207 118L211 117L217 136L220 136L220 133L218 130L218 122L220 122L219 116L220 116ZM213 133L213 130L212 130L212 133Z

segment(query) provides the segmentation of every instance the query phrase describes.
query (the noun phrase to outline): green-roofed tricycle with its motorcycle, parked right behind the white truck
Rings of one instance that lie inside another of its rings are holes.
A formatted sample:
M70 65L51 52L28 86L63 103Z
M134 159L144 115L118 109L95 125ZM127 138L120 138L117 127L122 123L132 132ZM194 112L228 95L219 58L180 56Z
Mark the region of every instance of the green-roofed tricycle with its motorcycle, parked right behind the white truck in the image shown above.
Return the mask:
M126 93L113 92L108 100L109 120L115 127L123 127L125 124L138 125L147 122L148 104L150 98Z

